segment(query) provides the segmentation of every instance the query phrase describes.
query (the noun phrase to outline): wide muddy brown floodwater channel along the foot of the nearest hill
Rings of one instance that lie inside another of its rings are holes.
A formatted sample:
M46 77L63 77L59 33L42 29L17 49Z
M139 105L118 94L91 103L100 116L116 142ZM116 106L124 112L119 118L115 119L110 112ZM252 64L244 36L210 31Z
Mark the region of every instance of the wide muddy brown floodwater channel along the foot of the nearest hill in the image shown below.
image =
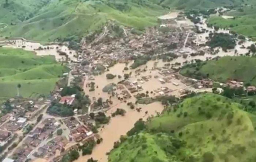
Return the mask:
M125 135L127 131L129 131L133 124L143 118L146 120L147 117L151 115L155 115L156 111L161 112L163 110L163 106L161 103L152 103L149 105L140 105L142 108L142 112L137 112L135 110L130 109L127 104L121 103L120 105L116 105L112 107L110 111L108 111L108 115L111 115L111 112L116 111L116 108L123 108L127 112L125 116L116 116L112 117L110 123L105 126L101 131L99 131L99 135L103 138L101 144L98 144L94 149L91 155L80 156L78 160L75 162L86 162L89 158L93 157L97 159L99 162L107 162L109 152L113 146L114 142L116 142L121 135ZM145 111L148 111L148 114L145 116Z

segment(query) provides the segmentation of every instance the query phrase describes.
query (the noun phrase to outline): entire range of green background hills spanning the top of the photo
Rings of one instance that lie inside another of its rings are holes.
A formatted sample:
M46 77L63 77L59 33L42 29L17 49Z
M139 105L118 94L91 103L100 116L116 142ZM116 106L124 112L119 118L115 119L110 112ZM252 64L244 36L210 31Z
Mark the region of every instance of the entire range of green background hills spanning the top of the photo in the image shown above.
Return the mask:
M240 5L244 0L0 0L0 4L0 36L67 41L102 29L108 20L143 30L157 25L157 17L168 8L205 9Z

